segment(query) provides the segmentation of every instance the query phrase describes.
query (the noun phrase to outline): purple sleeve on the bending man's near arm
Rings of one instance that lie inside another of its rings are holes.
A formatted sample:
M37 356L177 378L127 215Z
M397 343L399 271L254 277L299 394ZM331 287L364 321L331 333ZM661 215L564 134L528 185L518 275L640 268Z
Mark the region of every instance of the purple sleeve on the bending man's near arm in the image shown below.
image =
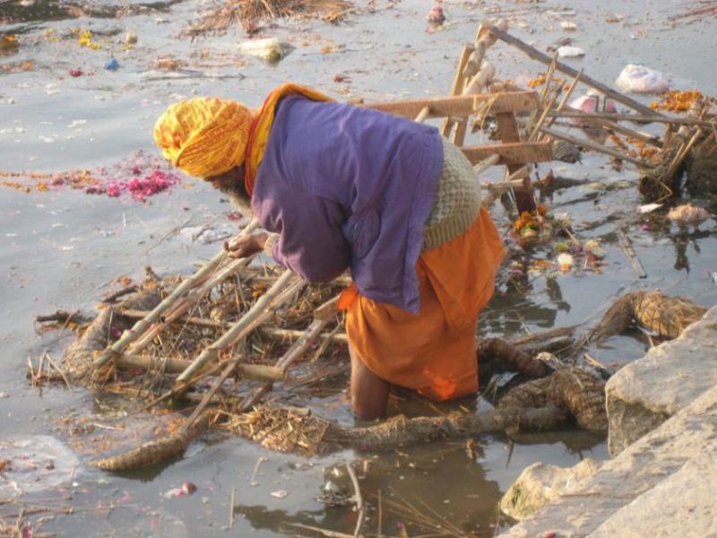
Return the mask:
M332 281L349 267L338 204L285 186L254 209L264 229L279 234L274 259L308 282Z

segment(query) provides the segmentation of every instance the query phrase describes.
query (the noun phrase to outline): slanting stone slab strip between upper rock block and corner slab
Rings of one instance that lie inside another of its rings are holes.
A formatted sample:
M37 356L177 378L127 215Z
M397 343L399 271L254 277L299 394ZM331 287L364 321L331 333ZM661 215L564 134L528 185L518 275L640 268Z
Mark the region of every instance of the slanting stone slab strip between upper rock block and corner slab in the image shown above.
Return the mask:
M596 532L621 508L715 445L717 386L627 447L618 457L605 462L597 473L578 482L573 490L501 536L534 538L555 532L560 538L569 538ZM709 490L703 490L705 497L717 499L717 480L708 482L705 488ZM689 523L689 520L683 522L683 532L678 535L700 535L690 534ZM634 525L637 528L641 523L635 521Z

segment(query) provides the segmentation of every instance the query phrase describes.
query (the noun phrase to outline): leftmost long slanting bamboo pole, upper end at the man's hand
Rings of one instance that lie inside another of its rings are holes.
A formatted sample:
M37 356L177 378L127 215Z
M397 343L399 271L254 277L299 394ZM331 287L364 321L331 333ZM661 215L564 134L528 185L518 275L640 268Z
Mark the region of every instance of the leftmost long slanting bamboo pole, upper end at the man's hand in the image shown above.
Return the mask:
M259 226L259 221L256 219L253 219L251 222L249 222L244 230L241 230L239 232L239 235L245 235L252 230L255 230ZM112 359L112 357L116 353L121 353L122 351L125 351L125 348L130 344L133 343L135 340L137 340L140 336L144 334L144 332L151 327L153 323L158 321L162 314L173 306L175 304L175 301L182 297L187 291L190 291L192 288L200 285L202 282L206 281L208 278L211 277L212 273L219 267L221 262L224 261L224 259L227 257L227 253L222 249L220 253L218 253L216 256L214 256L209 262L207 262L202 269L194 273L192 276L187 278L184 282L179 284L177 288L172 291L166 299L160 302L159 305L157 305L154 309L152 309L149 316L145 317L144 319L139 320L137 323L134 324L132 329L129 331L125 331L122 336L119 337L116 343L113 343L110 348L103 351L101 355L97 359L94 360L92 363L92 366L94 368L99 368L105 364L107 364L108 360Z

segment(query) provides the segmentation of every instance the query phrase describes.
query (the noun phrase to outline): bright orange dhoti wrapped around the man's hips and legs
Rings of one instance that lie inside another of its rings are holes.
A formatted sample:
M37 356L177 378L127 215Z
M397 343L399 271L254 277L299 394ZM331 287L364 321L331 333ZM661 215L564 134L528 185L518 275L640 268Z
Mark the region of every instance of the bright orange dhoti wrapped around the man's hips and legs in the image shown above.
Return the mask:
M436 400L475 393L478 315L493 295L503 255L496 226L481 209L468 230L419 257L418 316L353 288L355 298L342 302L350 303L346 332L358 359L389 383Z

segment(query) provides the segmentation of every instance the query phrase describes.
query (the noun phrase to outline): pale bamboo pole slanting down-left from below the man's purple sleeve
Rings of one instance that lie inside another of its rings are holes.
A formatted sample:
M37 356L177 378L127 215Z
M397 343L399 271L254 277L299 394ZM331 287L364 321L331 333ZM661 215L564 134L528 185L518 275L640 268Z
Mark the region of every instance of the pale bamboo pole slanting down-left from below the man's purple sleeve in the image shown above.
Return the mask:
M281 277L276 282L274 282L272 287L255 302L252 308L249 308L248 312L246 312L246 314L242 316L241 319L239 319L238 322L229 329L229 331L222 334L215 343L212 343L211 346L205 348L202 353L200 353L199 356L192 361L192 364L187 369L185 369L185 371L182 372L179 377L177 377L175 385L177 383L186 381L186 379L189 377L194 376L197 371L202 369L203 365L208 360L216 358L219 351L224 350L231 345L234 345L243 337L245 337L247 334L247 329L253 329L253 325L255 324L255 322L268 315L267 312L270 312L268 308L270 307L270 305L272 305L275 299L278 299L282 295L287 295L282 293L285 288L292 291L298 291L298 288L300 286L303 286L304 282L301 280L296 280L295 282L290 283L291 279L294 277L294 273L291 270L287 269L281 275Z

